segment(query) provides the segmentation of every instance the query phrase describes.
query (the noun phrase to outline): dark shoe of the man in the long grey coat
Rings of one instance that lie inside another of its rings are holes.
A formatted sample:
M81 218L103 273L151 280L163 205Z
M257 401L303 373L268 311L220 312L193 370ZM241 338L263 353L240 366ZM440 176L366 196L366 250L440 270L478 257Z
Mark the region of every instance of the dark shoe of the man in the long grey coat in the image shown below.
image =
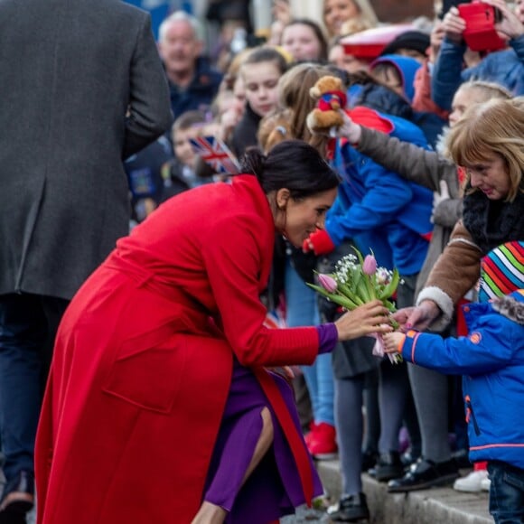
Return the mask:
M0 522L25 521L25 513L33 510L34 475L21 471L7 482L2 501L0 501Z

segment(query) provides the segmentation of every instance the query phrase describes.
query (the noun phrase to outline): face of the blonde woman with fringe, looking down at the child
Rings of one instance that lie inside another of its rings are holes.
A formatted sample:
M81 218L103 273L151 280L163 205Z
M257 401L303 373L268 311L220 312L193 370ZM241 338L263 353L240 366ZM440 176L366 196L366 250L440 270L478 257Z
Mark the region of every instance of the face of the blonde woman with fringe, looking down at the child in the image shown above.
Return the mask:
M472 187L482 191L491 201L500 201L508 196L510 175L501 155L495 154L489 160L464 167Z

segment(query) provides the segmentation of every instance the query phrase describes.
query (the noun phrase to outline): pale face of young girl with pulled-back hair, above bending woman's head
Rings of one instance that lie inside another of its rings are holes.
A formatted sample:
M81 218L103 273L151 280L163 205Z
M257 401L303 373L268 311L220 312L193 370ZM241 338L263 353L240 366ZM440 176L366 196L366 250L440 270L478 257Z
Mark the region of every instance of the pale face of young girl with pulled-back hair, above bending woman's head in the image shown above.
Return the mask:
M278 90L276 86L281 73L275 62L262 61L242 66L242 80L246 99L259 117L264 117L276 108Z

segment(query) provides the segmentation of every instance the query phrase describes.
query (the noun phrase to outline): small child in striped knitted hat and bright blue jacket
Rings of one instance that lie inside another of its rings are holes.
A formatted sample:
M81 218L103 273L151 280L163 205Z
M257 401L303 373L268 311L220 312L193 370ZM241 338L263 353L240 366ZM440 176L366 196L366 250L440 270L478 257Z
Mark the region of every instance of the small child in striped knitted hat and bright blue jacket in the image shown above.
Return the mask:
M463 307L469 335L416 331L384 336L419 366L463 375L470 460L488 461L496 523L524 521L524 242L482 259L479 302Z

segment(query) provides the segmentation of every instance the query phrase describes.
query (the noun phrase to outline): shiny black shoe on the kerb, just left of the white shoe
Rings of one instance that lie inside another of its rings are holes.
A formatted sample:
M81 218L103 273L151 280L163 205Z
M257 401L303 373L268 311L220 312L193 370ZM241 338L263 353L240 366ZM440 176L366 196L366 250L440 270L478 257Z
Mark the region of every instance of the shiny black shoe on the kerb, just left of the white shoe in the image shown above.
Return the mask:
M444 463L434 463L421 458L402 478L388 482L388 492L426 490L453 482L458 476L458 468L453 459Z

